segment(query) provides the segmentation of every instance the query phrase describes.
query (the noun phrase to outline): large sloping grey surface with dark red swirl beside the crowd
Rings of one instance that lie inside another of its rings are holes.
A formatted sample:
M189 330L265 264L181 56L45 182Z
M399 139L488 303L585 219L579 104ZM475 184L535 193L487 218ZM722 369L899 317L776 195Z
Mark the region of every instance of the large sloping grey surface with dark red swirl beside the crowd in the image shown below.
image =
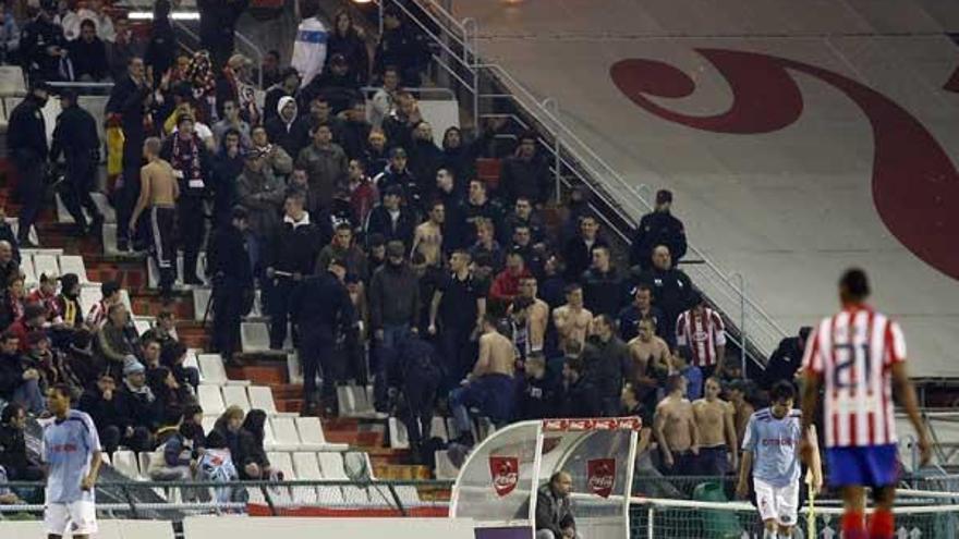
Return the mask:
M959 376L959 4L453 3L619 175L671 188L692 242L779 326L834 311L861 266L912 373Z

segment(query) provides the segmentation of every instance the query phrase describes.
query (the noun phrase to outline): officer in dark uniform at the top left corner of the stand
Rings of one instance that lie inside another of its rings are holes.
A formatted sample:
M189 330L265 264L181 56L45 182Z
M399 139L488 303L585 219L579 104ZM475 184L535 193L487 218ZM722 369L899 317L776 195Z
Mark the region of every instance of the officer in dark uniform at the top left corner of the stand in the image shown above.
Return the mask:
M63 81L61 63L66 58L63 28L53 22L57 0L40 0L40 12L24 28L20 38L23 71L31 79Z

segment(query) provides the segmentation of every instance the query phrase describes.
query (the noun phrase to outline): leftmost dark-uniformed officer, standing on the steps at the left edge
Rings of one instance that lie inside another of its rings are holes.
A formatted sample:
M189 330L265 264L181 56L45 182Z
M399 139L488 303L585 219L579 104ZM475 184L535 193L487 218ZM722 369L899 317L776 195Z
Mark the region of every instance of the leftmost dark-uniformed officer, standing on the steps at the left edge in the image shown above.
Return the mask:
M13 109L8 121L7 149L13 158L13 167L20 179L16 188L23 203L20 210L20 229L16 233L20 247L32 246L27 237L44 201L49 154L44 107L48 98L46 83L32 82L29 94Z

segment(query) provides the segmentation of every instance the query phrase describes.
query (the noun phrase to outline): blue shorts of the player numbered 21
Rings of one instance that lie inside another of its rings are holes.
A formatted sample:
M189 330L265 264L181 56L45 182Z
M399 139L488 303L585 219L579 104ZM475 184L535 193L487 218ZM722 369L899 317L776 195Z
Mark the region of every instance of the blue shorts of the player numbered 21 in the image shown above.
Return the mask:
M871 448L829 448L829 487L887 487L899 480L895 443Z

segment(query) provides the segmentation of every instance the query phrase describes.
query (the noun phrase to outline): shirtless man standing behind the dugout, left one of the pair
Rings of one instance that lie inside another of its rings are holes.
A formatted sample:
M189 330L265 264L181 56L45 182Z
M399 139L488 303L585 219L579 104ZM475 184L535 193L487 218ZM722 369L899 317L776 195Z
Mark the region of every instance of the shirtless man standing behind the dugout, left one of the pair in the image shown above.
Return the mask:
M671 375L666 382L669 394L656 406L653 433L663 453L665 474L691 476L700 454L700 432L693 419L693 405L685 395L685 378Z

